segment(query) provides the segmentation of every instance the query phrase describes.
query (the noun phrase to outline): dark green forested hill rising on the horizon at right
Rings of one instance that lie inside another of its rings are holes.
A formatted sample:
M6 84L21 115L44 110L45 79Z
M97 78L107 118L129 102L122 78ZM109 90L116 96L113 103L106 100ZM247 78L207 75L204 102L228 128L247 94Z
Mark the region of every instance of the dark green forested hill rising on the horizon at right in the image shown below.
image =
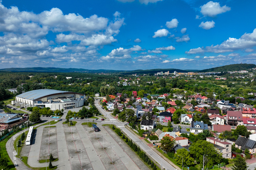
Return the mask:
M201 70L200 72L241 71L241 70L248 70L251 68L256 68L256 65L255 64L231 64L231 65L224 65L221 67Z

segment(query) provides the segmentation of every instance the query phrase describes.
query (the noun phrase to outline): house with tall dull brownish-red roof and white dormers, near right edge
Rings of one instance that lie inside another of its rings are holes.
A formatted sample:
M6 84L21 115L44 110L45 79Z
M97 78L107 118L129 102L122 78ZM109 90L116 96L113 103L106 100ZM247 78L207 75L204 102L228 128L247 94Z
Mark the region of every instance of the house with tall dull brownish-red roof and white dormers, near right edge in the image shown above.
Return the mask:
M231 126L243 125L243 115L241 111L227 111L227 124Z

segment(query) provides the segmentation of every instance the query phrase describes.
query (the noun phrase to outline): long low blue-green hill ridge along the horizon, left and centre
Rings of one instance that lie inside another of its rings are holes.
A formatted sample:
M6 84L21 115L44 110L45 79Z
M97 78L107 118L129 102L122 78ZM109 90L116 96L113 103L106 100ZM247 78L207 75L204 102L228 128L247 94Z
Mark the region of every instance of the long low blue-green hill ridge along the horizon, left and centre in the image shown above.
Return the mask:
M122 70L88 70L83 68L55 68L55 67L32 67L32 68L3 68L0 72L48 72L48 73L70 73L70 72L85 72L85 73L120 73L120 74L156 74L157 72L167 72L173 73L177 71L178 73L187 73L188 71L180 69L151 69L151 70L134 70L134 71L122 71Z

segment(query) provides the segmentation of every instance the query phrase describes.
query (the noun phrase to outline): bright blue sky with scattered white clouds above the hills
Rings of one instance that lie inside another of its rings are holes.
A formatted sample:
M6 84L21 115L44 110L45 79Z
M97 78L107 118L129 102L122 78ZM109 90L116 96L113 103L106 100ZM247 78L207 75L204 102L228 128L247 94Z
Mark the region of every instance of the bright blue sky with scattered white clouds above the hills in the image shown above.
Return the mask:
M256 64L254 0L0 0L0 68Z

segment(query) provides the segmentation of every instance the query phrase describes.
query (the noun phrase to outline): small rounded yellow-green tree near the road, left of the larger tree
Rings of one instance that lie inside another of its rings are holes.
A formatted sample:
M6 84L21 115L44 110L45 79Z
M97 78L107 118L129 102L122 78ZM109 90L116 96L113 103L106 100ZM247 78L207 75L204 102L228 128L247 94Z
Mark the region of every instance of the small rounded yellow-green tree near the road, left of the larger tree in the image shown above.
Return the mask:
M195 159L190 156L190 153L185 148L178 149L177 153L174 155L175 161L177 164L182 165L182 157L183 157L183 166L191 167L194 165Z

